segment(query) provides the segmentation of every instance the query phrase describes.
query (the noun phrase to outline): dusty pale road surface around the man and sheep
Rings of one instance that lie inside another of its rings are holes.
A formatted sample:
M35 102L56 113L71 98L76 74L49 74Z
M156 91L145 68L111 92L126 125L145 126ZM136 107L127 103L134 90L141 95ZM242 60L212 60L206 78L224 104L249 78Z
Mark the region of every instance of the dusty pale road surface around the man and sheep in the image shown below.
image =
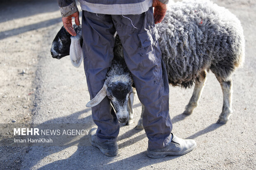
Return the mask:
M85 135L85 140L52 147L0 146L0 169L256 169L256 1L214 2L240 19L246 59L232 76L234 112L225 125L216 124L222 91L212 73L190 116L181 113L192 89L170 88L173 133L196 140L196 149L184 156L148 158L145 131L134 129L141 111L135 98L135 123L121 126L117 156L104 156ZM0 0L0 16L0 123L90 124L83 64L77 69L69 57L57 60L50 55L52 40L62 26L57 2ZM13 137L10 132L0 134L0 141Z

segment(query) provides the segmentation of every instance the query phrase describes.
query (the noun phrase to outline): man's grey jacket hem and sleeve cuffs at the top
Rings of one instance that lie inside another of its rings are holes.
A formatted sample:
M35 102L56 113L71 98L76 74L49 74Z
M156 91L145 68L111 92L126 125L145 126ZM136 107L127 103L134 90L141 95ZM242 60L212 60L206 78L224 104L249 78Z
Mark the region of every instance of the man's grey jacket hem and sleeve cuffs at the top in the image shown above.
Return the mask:
M169 0L159 0L167 4ZM129 15L142 14L152 6L152 0L78 0L83 11L96 14ZM62 17L76 11L75 0L58 0Z

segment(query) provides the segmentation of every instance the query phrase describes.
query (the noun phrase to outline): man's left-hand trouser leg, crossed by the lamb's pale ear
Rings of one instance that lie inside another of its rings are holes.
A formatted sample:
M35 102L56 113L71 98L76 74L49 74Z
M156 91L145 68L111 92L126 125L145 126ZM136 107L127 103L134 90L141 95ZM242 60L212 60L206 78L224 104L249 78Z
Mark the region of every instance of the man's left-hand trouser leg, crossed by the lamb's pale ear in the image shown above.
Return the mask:
M84 70L92 99L102 88L111 66L115 28L111 16L83 11L82 29ZM116 142L119 122L107 97L92 107L92 119L98 126L99 142Z

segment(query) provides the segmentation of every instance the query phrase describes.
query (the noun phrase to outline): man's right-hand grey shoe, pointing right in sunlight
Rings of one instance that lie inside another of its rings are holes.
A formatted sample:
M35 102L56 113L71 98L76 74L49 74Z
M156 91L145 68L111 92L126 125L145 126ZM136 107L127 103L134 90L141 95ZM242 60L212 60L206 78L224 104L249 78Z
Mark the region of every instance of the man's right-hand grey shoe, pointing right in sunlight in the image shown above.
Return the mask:
M172 134L173 135L173 134ZM197 143L191 139L181 139L173 135L173 139L166 147L161 149L147 149L147 156L151 158L164 158L167 155L184 155L197 147Z

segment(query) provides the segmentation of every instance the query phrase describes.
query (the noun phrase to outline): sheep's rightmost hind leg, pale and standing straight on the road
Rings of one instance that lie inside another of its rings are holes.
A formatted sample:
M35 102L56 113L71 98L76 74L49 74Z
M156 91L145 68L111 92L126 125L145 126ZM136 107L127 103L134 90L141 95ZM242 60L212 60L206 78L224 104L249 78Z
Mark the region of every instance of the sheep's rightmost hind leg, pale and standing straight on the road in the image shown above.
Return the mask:
M223 107L217 123L227 123L232 113L232 79L227 81L218 80L223 92Z

